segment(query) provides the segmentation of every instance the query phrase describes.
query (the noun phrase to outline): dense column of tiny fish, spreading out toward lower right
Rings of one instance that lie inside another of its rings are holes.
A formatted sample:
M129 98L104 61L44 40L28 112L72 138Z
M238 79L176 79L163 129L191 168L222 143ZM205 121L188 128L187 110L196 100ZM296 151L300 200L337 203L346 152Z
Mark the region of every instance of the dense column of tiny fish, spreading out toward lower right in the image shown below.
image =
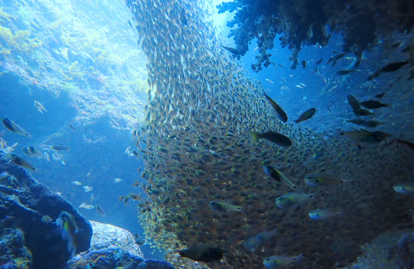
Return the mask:
M223 251L210 268L265 268L277 261L338 268L381 232L413 227L413 200L403 202L393 190L412 180L413 151L389 140L358 150L344 136L280 121L263 88L220 44L203 1L126 2L149 59L146 125L136 142L147 195L139 219L168 261L193 268L178 251L204 243ZM292 146L266 139L251 144L248 130L280 133ZM297 188L272 180L263 165ZM347 182L305 183L321 171ZM300 206L277 207L275 200L292 191L312 196ZM240 210L212 210L211 202L220 201ZM341 214L318 220L309 217L315 210ZM261 232L272 232L272 240L246 247Z

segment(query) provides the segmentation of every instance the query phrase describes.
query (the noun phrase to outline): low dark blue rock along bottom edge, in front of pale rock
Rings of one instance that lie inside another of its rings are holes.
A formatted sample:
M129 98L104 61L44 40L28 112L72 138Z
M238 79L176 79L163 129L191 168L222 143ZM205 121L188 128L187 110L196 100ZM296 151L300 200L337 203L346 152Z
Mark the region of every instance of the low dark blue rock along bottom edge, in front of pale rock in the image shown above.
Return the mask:
M172 265L164 261L144 261L141 257L117 246L81 253L69 261L67 269L84 269L88 266L91 268L174 269Z

